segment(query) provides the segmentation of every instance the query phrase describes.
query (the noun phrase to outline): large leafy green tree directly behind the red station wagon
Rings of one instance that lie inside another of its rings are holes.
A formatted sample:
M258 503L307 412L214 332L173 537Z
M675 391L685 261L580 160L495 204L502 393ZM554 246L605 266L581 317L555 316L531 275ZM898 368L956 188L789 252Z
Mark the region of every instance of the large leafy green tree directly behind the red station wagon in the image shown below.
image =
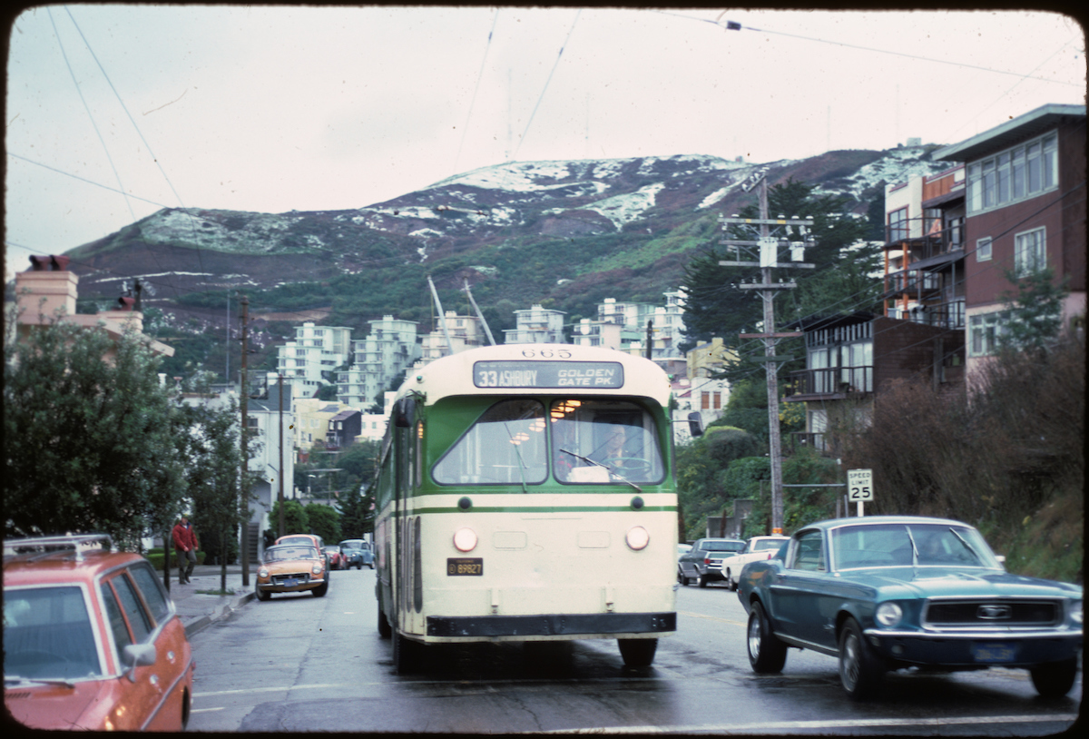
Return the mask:
M176 408L133 332L57 320L4 344L4 534L110 534L138 549L186 492Z

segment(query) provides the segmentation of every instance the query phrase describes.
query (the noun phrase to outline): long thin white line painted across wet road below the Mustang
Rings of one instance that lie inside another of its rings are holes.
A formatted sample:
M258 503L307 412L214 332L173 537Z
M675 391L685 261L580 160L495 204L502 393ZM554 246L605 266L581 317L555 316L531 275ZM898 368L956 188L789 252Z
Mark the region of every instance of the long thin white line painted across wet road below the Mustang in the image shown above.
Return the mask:
M701 724L690 726L599 726L551 731L518 734L752 734L755 731L790 731L798 729L872 728L878 726L947 726L950 724L1042 724L1077 720L1076 713L1047 716L957 716L946 718L845 718L841 720L766 722L759 724Z

